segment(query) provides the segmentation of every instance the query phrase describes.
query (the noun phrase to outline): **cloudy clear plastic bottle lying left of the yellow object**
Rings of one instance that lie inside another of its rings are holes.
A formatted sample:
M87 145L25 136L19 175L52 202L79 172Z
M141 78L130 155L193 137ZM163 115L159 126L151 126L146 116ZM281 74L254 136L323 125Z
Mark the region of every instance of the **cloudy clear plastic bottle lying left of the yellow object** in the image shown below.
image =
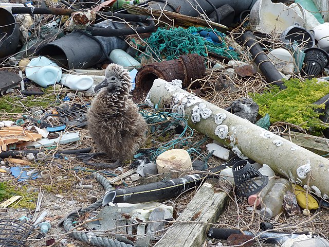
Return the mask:
M290 182L286 179L277 179L267 195L263 198L261 205L261 216L270 219L280 213L282 210L283 197L288 190L292 190Z

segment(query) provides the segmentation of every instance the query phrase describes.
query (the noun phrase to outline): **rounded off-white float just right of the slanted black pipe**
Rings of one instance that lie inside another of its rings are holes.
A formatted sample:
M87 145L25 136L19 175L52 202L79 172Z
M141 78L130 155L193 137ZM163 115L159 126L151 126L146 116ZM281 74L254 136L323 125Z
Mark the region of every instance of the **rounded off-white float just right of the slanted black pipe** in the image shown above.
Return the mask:
M273 49L267 56L270 60L272 60L274 66L278 70L286 73L294 72L294 57L288 50L283 48Z

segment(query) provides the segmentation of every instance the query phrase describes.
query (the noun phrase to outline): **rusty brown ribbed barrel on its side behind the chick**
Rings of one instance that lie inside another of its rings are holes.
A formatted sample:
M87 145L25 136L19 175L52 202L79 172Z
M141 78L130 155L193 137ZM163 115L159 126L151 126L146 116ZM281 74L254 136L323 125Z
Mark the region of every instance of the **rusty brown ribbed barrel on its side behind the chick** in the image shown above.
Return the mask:
M205 72L205 59L198 54L182 55L178 59L145 65L136 74L134 98L145 97L157 78L166 81L179 79L182 87L188 87L195 79L202 78Z

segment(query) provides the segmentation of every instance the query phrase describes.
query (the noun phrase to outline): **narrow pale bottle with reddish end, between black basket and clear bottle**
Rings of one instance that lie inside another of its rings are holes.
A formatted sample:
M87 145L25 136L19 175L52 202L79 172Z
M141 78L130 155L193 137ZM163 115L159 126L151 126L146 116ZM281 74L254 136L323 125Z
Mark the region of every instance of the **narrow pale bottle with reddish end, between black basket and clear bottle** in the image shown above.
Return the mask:
M262 173L262 175L267 176L268 177L268 183L267 185L261 190L260 193L257 193L255 195L251 195L248 197L248 203L250 205L253 205L256 202L256 206L261 204L262 198L264 198L267 194L267 192L272 188L275 178L271 178L273 176L275 176L274 171L269 167L269 166L263 166L261 168L258 169L260 173ZM271 178L271 179L270 179ZM256 184L261 185L262 182L260 180L255 180L254 181ZM259 195L259 196L258 196Z

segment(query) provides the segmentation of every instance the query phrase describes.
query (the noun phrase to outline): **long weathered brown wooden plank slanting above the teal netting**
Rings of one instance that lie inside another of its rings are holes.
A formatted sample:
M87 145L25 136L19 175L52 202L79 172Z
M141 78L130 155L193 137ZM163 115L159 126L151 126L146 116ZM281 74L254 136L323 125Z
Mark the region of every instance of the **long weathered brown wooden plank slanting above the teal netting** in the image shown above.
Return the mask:
M218 31L226 32L228 27L219 23L206 21L198 17L192 17L184 14L179 14L171 12L168 10L157 10L157 9L147 9L137 5L123 4L122 7L126 9L131 14L139 15L153 15L154 17L160 17L162 22L177 25L182 27L212 27L216 28Z

